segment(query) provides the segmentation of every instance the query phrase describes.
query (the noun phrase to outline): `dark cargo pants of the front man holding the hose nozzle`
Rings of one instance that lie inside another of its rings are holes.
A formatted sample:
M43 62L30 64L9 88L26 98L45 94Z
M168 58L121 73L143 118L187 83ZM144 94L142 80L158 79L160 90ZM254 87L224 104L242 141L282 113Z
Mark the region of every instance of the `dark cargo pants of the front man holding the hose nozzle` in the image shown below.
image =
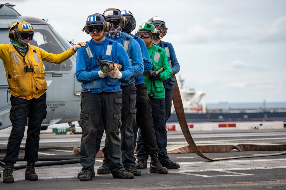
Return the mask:
M121 159L119 127L121 126L122 92L83 92L81 98L80 164L82 172L94 173L96 138L102 120L106 131L106 156L111 173L124 170Z

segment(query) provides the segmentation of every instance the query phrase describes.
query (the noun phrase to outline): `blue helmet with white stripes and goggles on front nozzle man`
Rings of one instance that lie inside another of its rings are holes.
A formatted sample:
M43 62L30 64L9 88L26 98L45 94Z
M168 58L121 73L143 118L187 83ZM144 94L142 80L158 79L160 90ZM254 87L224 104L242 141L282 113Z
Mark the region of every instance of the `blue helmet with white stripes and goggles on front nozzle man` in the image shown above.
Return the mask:
M108 32L111 28L110 23L106 22L105 17L102 14L95 13L93 15L89 15L86 19L86 24L82 31L85 31L86 34L93 33L94 30L96 32Z

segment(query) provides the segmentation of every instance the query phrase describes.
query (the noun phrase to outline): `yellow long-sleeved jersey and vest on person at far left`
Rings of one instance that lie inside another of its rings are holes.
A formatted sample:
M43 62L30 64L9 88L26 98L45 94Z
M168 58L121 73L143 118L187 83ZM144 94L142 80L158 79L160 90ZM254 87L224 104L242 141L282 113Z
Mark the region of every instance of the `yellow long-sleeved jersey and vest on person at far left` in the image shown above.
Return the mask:
M60 64L74 54L72 48L61 54L51 54L37 46L28 46L24 65L23 56L25 53L21 53L23 55L21 56L12 44L0 44L0 58L5 67L10 87L9 93L27 100L39 98L48 88L43 61ZM24 67L33 68L33 70L29 69L30 72L26 72Z

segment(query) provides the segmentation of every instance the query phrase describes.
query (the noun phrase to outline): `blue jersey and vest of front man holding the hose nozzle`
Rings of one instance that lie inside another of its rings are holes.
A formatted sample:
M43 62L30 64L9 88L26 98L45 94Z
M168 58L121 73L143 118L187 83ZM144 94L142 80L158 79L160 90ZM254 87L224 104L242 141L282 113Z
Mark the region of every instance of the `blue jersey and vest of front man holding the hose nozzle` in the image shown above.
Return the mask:
M121 79L125 80L133 75L133 68L127 52L121 44L107 38L97 44L91 39L85 47L78 48L76 56L76 79L82 83L82 92L122 91L120 80L113 79L110 76L99 77L100 65L96 65L96 62L102 58L122 65Z

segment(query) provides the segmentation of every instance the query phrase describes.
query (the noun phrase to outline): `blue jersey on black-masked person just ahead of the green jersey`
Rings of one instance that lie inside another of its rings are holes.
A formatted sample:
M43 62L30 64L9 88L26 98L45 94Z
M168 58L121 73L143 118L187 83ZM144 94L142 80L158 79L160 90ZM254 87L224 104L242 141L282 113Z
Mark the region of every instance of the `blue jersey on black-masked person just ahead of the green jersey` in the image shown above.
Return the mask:
M145 42L141 38L139 38L138 36L135 36L134 34L131 34L131 36L140 45L141 53L142 53L142 56L143 56L144 72L152 70L152 62L151 62L150 56L148 54ZM138 77L134 77L135 85L137 85L137 84L144 84L143 78L144 78L143 75L140 75Z

